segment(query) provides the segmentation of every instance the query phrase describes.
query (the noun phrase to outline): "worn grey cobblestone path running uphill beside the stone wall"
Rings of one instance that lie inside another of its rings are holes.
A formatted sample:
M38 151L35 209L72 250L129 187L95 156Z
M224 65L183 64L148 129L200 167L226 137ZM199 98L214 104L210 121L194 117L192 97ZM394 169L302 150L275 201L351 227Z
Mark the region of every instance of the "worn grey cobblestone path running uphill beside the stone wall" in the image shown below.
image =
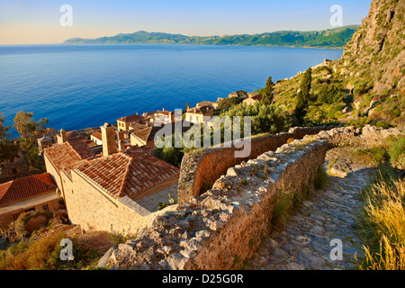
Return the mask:
M355 255L363 254L356 235L356 219L363 204L359 192L368 183L373 168L356 165L350 170L343 178L329 175L326 191L314 193L310 201L303 202L301 209L289 217L281 231L273 231L247 269L356 268ZM333 239L335 242L331 242ZM337 257L337 243L342 247L341 260Z

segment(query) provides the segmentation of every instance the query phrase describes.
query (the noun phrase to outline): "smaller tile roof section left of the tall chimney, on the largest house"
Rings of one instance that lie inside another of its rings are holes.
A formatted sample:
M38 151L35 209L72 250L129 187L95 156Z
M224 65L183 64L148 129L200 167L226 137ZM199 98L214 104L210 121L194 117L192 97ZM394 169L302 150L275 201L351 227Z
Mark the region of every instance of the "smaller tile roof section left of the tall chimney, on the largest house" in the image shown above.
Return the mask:
M94 152L85 142L70 140L45 148L44 154L58 172L64 167L72 166L80 160L94 157Z

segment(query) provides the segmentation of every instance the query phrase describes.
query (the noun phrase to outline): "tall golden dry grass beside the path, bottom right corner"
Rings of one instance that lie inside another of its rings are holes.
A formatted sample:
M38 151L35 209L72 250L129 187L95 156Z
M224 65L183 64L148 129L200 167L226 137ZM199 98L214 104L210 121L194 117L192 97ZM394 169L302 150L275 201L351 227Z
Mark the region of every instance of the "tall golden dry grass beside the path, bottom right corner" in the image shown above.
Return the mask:
M360 269L405 269L405 180L379 181L364 197L367 244Z

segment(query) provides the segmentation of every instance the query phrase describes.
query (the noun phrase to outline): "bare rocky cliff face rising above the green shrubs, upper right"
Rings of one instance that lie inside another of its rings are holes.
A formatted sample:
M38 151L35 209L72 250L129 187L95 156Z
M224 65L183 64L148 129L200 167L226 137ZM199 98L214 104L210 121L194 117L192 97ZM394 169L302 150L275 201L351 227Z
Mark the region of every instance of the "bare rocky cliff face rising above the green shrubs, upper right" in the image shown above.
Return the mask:
M347 87L379 101L405 93L405 0L373 0L338 62Z

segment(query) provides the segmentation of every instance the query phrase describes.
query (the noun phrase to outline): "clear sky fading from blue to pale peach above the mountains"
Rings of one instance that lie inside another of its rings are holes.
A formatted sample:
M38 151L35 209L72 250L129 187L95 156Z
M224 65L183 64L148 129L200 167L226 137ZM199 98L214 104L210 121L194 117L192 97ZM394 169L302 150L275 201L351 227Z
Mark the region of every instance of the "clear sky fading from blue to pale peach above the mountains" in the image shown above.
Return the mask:
M71 14L61 11L64 4ZM334 4L342 7L343 25L351 25L361 23L371 0L0 0L0 45L140 30L188 36L324 30L335 28L329 21Z

